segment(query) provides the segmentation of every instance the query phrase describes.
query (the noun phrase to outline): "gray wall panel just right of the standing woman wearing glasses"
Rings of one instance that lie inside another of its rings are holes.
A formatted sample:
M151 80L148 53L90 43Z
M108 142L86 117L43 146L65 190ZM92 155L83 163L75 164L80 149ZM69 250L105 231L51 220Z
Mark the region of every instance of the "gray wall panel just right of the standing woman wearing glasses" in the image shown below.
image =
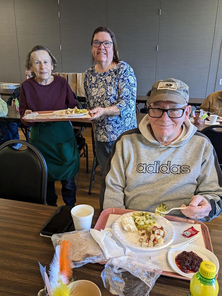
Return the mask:
M157 0L108 0L108 27L116 36L120 59L135 72L138 95L146 95L155 82L159 9Z

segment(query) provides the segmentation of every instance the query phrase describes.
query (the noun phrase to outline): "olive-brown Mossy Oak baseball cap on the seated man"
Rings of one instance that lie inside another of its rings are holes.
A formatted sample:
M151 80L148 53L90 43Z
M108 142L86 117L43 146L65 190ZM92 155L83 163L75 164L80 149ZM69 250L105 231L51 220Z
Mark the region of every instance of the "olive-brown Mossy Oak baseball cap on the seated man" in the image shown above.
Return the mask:
M159 80L152 86L147 105L157 101L171 101L181 105L188 104L188 89L189 87L178 79Z

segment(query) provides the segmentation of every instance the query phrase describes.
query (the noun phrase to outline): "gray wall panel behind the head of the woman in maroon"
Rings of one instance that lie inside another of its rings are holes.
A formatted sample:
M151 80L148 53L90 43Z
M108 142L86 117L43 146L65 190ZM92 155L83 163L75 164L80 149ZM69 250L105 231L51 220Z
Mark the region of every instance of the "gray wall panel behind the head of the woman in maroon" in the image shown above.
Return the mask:
M22 74L28 51L41 44L56 57L57 72L62 70L59 32L59 7L57 0L15 0L15 19L19 59ZM22 79L24 75L22 76Z

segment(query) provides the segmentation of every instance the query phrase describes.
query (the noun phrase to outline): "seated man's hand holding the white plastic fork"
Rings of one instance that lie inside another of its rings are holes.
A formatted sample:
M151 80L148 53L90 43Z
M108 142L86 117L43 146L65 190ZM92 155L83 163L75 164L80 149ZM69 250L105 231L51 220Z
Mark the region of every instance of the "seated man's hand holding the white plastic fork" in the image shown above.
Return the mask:
M197 207L198 205L201 207ZM186 207L186 205L181 205L181 207ZM202 219L209 216L211 210L211 205L202 195L194 195L191 197L189 206L185 210L181 210L181 212L186 217L192 219Z

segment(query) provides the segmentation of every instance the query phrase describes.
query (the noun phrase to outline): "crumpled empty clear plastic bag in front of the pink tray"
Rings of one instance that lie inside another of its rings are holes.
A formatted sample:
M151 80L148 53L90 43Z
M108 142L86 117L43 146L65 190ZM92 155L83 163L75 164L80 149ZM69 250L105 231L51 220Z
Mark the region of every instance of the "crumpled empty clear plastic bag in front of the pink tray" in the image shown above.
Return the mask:
M131 256L110 258L102 271L104 287L114 295L148 296L163 271L163 263Z

